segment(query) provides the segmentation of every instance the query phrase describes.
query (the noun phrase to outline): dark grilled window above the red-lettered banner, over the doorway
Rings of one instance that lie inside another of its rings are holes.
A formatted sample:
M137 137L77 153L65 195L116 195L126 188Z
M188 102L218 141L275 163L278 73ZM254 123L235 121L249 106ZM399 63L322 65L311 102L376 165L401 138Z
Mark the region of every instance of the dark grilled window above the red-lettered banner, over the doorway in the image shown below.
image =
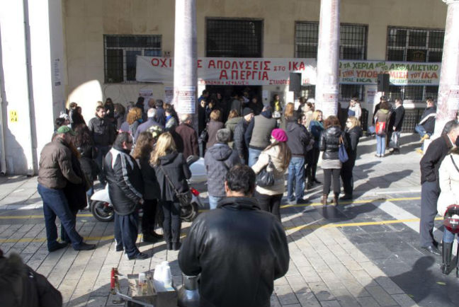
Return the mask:
M261 57L263 21L206 19L206 57Z

